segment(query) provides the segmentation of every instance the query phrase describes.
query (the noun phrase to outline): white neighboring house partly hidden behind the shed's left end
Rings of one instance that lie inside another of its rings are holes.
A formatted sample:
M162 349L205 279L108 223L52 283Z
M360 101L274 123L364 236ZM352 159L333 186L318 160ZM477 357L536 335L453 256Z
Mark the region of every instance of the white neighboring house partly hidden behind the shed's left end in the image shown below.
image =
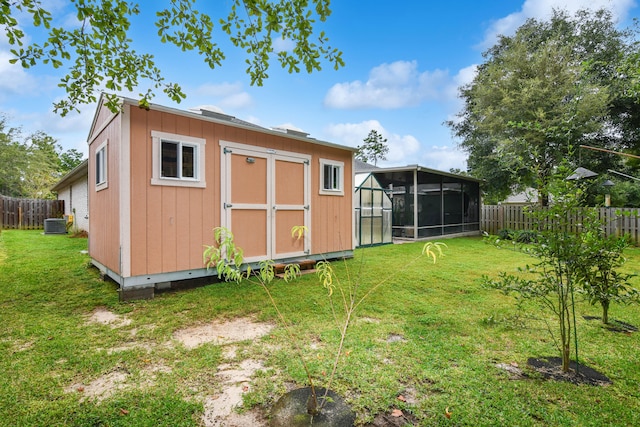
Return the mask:
M67 173L51 189L64 200L64 214L73 215L73 229L89 230L88 165L85 160Z

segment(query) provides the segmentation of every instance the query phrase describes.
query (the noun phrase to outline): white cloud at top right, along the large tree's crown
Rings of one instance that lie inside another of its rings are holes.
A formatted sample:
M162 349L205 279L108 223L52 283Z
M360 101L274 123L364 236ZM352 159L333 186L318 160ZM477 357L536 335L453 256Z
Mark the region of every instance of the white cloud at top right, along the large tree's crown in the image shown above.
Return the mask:
M498 35L512 35L516 29L529 18L546 20L551 17L553 9L566 10L574 14L580 9L609 9L614 20L626 19L630 9L636 6L635 0L526 0L519 12L512 13L495 21L485 34L480 44L482 49L493 46Z

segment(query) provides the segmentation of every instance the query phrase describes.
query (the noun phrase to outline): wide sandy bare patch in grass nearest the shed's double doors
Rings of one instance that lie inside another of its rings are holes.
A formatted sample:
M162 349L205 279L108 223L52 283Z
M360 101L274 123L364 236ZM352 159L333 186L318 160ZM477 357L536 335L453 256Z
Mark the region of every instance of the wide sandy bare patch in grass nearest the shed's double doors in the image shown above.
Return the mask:
M254 340L267 335L272 329L271 324L240 318L181 329L173 334L173 337L191 349L205 343L223 345Z

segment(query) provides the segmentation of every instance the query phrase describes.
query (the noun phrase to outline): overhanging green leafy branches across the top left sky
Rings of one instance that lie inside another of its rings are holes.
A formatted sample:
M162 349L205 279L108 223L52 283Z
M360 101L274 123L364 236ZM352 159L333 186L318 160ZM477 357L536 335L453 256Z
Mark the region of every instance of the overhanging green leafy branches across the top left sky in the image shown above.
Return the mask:
M14 58L25 68L50 64L65 68L60 86L67 97L54 104L61 115L77 110L78 104L95 102L102 88L119 91L141 90L140 104L149 105L155 91L164 91L180 102L185 97L180 86L165 81L149 52L134 49L131 37L132 18L141 6L128 0L73 0L77 26L56 26L65 16L54 16L52 6L40 0L0 2L0 28L12 46ZM222 2L215 2L222 3ZM268 77L270 64L278 61L289 72L304 67L307 72L320 70L322 61L334 68L344 65L342 52L330 46L317 21L331 14L330 0L231 0L225 16L216 21L205 2L169 0L145 2L142 7L155 11L155 31L163 43L182 51L195 51L212 69L220 66L225 53L219 42L230 40L247 53L246 72L251 83L261 85ZM200 7L200 8L199 8ZM63 10L68 13L68 10ZM29 20L23 22L22 20ZM44 41L29 43L24 28L31 24L46 30ZM148 31L147 33L148 34ZM293 48L276 52L274 41L283 39ZM118 108L114 96L108 98L111 109Z

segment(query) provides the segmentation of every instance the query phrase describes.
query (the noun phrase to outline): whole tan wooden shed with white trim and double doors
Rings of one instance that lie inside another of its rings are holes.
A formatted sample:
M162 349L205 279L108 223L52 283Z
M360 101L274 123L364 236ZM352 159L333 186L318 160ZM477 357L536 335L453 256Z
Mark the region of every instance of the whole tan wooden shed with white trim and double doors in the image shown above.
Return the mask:
M117 114L101 98L88 143L89 255L121 299L214 274L220 226L251 263L353 254L353 148L128 98Z

